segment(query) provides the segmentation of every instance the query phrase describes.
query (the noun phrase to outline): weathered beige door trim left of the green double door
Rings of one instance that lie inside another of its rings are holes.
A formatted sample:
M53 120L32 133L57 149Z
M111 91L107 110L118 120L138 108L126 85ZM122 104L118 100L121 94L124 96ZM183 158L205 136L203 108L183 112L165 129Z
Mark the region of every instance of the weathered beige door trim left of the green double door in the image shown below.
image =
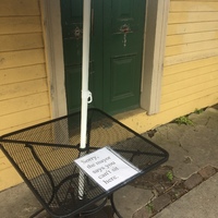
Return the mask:
M40 0L40 8L51 117L58 118L68 113L60 0Z

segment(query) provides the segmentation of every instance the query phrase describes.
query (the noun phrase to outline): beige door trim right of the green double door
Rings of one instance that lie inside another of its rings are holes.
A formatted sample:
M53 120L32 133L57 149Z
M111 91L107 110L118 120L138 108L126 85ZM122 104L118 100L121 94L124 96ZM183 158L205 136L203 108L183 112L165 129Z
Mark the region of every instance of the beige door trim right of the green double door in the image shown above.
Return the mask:
M141 107L159 112L170 0L147 0Z

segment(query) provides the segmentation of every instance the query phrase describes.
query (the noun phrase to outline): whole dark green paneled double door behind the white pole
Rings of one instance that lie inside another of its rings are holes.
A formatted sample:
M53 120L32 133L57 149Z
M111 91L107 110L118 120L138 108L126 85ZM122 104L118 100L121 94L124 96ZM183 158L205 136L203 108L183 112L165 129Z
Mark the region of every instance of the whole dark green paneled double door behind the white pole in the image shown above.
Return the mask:
M92 106L118 112L140 106L145 0L93 0ZM80 110L83 1L61 0L68 111Z

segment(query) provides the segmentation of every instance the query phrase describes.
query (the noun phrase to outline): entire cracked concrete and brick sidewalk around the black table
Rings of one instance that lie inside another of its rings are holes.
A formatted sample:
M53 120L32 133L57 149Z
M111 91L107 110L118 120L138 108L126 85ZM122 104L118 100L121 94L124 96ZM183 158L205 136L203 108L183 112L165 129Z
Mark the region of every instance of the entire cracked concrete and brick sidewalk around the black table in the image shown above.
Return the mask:
M168 150L170 158L114 194L123 218L217 217L218 110L207 108L189 118L193 125L168 123L144 134ZM0 202L1 218L27 218L40 208L25 184L1 192ZM89 217L111 218L108 214ZM44 211L37 217L49 216Z

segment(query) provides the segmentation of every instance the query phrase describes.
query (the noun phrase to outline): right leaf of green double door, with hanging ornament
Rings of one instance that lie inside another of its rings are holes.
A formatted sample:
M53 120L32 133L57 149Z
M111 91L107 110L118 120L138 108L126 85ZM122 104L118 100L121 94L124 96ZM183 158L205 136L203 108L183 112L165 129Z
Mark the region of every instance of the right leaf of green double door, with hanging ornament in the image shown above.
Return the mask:
M122 111L140 106L145 0L104 4L104 107Z

